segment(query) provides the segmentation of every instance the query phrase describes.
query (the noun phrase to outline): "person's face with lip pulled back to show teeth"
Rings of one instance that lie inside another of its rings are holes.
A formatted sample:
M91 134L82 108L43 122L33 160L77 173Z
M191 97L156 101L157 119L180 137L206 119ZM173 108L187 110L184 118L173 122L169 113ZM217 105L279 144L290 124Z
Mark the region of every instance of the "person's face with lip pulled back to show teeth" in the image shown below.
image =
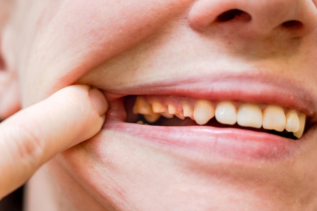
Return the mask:
M3 52L23 107L75 83L110 104L95 137L46 164L47 195L74 210L316 209L314 4L18 1Z

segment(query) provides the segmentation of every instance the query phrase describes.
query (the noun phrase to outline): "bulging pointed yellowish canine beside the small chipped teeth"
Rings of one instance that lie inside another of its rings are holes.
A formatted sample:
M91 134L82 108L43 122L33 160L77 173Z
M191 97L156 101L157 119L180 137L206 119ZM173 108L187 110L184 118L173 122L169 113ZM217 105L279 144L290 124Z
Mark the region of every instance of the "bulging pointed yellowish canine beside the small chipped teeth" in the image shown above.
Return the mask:
M193 115L197 124L206 124L215 116L215 109L208 100L199 100L195 104Z

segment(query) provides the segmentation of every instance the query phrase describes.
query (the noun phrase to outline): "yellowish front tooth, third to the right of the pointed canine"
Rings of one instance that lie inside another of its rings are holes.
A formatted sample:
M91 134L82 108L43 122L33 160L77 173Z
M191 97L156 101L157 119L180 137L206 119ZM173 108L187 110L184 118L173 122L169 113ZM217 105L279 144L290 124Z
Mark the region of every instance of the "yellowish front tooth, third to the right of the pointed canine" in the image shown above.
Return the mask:
M263 111L263 128L282 132L285 129L286 117L281 106L269 105Z

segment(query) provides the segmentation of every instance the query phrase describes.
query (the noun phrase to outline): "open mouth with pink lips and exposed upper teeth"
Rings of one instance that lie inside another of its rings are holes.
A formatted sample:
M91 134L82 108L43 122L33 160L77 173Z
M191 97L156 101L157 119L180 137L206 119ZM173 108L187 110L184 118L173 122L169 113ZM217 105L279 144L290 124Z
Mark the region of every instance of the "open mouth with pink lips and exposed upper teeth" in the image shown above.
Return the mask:
M212 80L106 92L103 129L174 149L274 160L293 154L312 135L312 97L293 83L254 76Z

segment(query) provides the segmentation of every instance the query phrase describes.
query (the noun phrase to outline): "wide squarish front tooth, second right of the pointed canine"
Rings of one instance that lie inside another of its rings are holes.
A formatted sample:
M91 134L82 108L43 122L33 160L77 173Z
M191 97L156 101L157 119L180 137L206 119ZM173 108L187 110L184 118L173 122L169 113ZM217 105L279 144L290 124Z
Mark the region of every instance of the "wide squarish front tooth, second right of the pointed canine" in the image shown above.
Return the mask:
M237 111L236 121L240 126L261 128L262 110L260 106L252 103L242 104Z

